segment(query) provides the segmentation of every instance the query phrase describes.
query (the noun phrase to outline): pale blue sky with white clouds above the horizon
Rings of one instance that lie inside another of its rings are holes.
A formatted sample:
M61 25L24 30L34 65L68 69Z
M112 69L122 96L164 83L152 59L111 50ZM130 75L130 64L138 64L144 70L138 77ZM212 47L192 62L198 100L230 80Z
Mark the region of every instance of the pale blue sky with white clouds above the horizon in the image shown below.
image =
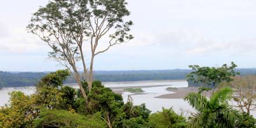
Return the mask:
M47 0L0 0L0 70L63 69L26 26ZM95 58L94 70L188 69L188 65L256 67L255 0L127 0L133 40ZM103 42L104 43L104 42Z

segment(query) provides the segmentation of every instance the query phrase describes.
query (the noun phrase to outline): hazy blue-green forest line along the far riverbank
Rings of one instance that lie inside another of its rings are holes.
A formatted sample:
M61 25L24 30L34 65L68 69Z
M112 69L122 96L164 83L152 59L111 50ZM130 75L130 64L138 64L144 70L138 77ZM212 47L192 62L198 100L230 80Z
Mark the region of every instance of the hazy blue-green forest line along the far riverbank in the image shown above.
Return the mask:
M186 79L189 69L174 70L123 70L123 71L95 71L94 79L101 81L140 81L140 80L179 80ZM256 68L237 69L241 75L256 74ZM41 77L48 72L1 72L0 87L34 86ZM76 83L73 76L65 83ZM189 82L190 85L193 83Z

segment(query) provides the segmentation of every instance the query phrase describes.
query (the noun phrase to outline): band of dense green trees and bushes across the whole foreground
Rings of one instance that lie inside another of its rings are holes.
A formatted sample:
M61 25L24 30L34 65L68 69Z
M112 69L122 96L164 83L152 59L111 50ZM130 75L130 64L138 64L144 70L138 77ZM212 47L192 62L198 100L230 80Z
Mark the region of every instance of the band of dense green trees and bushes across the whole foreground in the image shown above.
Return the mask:
M194 73L202 73L201 71L205 70L197 70ZM212 72L215 73L219 71ZM215 80L229 81L230 72L223 73L225 79L215 77ZM63 81L69 74L68 70L47 74L38 81L37 91L32 95L20 91L10 93L9 105L0 109L0 127L256 127L256 120L250 115L250 106L244 111L248 105L234 109L228 104L235 93L231 87L240 88L241 90L237 91L242 91L241 94L248 94L246 97L233 97L234 100L243 100L246 104L253 103L252 100L244 99L250 98L249 95L255 96L254 93L249 94L252 91L248 87L249 83L256 83L255 76L237 77L234 81L225 83L225 87L212 91L214 93L209 98L203 93L209 90L187 93L184 101L196 111L187 118L172 108L162 108L162 111L152 113L145 104L134 105L132 100L125 103L122 95L102 86L101 81L94 81L91 92L88 90L88 84L83 82L83 88L88 95L87 99L84 99L79 89L63 86ZM239 84L241 81L242 84ZM250 99L254 100L255 97Z

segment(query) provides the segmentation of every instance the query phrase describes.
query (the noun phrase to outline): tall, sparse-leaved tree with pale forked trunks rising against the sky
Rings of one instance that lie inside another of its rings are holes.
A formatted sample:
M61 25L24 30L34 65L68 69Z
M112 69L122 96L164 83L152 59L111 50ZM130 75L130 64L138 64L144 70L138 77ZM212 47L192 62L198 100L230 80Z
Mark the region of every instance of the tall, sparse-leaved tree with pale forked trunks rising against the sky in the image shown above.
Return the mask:
M81 77L91 92L95 56L133 38L129 34L133 23L124 20L130 15L126 5L125 0L52 0L33 14L27 26L51 47L51 59L74 73L85 99Z

